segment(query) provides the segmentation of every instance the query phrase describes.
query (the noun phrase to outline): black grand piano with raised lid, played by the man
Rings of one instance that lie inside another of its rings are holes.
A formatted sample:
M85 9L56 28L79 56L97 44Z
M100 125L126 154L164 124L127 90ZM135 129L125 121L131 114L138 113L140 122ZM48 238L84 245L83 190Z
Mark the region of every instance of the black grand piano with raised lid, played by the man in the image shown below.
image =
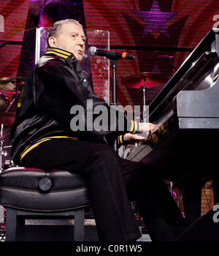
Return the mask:
M126 159L155 167L180 187L185 217L201 215L201 188L212 180L219 201L219 29L211 29L149 106L157 124Z

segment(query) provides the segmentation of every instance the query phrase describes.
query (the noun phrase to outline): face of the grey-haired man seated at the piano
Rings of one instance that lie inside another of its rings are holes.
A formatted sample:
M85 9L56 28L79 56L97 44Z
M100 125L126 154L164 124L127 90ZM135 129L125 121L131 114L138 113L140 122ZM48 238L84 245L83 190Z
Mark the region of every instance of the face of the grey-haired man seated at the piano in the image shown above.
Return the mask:
M50 37L51 47L60 48L73 53L79 63L85 53L85 34L77 24L65 23L57 37Z

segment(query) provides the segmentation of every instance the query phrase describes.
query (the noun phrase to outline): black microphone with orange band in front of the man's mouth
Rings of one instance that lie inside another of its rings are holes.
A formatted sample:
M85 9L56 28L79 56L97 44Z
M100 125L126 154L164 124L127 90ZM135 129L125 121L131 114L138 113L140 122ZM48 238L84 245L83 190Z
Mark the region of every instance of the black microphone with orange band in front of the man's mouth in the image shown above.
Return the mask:
M134 55L128 53L118 53L112 50L101 50L94 46L88 49L88 53L91 56L104 56L108 59L134 59Z

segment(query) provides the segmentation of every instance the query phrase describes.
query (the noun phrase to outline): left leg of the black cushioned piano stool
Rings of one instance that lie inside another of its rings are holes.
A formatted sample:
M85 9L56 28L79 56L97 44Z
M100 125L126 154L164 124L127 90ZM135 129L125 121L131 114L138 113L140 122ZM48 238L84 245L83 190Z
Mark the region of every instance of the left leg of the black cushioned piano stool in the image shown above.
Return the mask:
M5 241L16 241L17 211L12 208L6 210Z

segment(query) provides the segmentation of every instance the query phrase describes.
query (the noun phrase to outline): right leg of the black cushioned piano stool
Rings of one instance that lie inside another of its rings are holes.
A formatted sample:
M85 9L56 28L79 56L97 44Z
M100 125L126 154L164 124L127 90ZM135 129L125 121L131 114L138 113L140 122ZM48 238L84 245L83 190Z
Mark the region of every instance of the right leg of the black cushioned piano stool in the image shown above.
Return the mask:
M74 241L85 241L85 209L74 211Z

